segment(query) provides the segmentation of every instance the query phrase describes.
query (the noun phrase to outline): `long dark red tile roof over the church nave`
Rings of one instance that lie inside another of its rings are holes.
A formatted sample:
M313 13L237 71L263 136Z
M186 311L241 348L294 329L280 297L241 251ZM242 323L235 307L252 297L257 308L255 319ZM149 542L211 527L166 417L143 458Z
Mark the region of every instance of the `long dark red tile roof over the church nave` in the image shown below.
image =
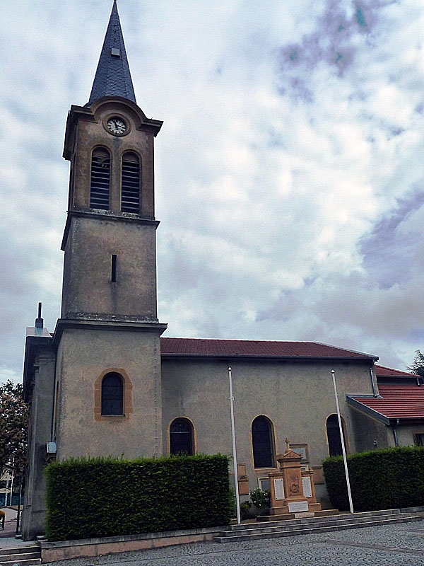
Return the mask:
M319 342L271 342L269 340L202 340L161 338L164 356L289 357L378 359L370 354L343 350Z

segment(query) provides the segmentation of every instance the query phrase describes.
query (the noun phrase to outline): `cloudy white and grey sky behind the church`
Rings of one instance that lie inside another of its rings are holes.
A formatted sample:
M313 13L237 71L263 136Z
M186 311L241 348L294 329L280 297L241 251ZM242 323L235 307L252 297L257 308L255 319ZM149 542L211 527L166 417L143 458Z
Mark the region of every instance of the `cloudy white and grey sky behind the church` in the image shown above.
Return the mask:
M167 336L424 349L422 0L119 0L156 144ZM54 330L69 163L112 0L0 21L0 381L37 301Z

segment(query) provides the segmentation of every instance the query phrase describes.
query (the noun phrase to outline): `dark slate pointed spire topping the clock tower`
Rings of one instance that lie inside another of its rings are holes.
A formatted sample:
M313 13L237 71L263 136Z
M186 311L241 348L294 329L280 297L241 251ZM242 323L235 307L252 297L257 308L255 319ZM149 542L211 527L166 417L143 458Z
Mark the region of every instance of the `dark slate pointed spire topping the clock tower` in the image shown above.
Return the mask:
M122 96L136 102L134 87L126 59L124 36L114 0L109 25L87 106L102 96Z

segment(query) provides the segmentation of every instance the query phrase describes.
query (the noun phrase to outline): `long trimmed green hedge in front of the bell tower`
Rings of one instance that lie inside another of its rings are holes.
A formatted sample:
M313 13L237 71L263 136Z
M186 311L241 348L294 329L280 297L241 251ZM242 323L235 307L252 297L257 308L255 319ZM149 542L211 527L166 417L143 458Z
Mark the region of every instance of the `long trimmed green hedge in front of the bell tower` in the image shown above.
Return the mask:
M228 457L78 458L46 468L50 541L228 524Z

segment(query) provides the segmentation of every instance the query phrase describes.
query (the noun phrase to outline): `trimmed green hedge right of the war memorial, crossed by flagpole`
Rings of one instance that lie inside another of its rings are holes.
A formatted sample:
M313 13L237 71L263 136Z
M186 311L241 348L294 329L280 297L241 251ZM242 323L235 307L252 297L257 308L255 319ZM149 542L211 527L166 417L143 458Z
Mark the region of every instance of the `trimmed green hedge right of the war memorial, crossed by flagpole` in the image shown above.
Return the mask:
M322 463L331 504L349 509L341 456ZM424 448L404 446L348 456L353 509L375 511L424 505Z

